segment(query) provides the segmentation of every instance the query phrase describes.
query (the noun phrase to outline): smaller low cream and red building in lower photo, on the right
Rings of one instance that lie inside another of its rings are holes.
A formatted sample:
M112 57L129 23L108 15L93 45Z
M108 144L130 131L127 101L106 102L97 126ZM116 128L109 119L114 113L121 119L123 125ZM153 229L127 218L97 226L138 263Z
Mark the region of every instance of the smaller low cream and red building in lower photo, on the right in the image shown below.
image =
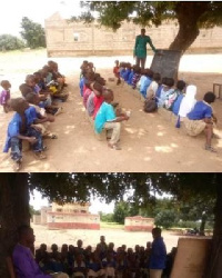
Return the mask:
M124 230L127 231L151 231L154 227L153 218L141 216L125 217Z

